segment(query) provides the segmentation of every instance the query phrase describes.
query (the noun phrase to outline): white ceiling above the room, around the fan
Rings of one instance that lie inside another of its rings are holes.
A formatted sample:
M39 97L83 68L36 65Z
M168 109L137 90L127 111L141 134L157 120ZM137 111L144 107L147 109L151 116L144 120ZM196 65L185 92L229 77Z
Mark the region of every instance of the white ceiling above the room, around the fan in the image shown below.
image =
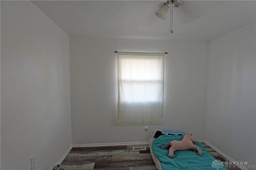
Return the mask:
M210 40L256 18L256 1L184 1L165 21L166 1L32 1L69 35Z

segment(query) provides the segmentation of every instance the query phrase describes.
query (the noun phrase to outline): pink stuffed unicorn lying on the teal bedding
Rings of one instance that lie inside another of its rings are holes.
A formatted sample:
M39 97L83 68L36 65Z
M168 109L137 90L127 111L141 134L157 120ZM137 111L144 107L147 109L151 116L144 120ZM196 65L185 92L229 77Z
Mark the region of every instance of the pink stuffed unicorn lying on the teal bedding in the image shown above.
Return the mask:
M197 154L202 156L202 150L193 144L193 142L196 142L197 140L192 137L192 134L188 135L185 134L184 138L181 141L171 141L170 142L170 149L169 149L169 157L174 158L174 151L176 150L189 150L189 149L195 149L197 151Z

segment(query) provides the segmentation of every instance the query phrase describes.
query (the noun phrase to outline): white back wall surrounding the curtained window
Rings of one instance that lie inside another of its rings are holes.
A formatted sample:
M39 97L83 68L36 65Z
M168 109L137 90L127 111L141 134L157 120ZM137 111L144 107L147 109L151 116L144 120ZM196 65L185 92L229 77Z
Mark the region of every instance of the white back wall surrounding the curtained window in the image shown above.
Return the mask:
M114 51L168 52L164 124L116 125L117 56ZM207 42L70 36L73 144L148 141L156 130L175 129L202 139Z

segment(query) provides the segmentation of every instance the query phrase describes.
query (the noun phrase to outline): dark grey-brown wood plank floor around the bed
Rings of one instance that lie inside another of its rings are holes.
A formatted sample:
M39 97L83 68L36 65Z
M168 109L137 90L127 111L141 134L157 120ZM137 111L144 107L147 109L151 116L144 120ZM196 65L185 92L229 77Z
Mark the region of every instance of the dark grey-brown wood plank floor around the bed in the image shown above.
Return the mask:
M202 143L214 158L226 162L214 149ZM145 146L147 150L134 151L132 147ZM228 161L227 161L228 162ZM64 170L157 170L149 145L109 147L74 147L60 165ZM230 170L240 170L234 166Z

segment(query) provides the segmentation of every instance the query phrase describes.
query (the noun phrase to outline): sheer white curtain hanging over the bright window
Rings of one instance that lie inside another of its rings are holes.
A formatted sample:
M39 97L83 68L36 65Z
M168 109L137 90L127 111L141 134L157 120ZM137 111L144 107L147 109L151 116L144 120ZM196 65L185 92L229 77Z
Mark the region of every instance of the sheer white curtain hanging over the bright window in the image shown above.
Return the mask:
M118 52L118 125L163 124L164 53Z

